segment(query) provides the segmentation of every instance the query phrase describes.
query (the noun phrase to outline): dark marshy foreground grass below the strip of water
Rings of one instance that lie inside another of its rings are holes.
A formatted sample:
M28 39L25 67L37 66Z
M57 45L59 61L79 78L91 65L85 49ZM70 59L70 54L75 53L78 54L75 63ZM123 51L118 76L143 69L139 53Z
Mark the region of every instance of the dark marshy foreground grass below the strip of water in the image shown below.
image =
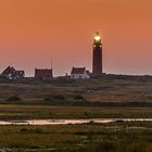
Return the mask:
M151 152L152 123L0 126L0 148L13 152Z

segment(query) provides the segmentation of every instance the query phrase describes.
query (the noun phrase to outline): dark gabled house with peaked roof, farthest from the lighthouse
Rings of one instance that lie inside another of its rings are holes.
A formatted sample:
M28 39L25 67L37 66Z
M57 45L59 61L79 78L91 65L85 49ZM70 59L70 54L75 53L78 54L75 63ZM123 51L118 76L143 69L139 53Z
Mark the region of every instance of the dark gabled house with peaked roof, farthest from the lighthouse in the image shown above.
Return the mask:
M8 66L1 75L8 79L22 79L25 77L24 71L16 71L13 66Z

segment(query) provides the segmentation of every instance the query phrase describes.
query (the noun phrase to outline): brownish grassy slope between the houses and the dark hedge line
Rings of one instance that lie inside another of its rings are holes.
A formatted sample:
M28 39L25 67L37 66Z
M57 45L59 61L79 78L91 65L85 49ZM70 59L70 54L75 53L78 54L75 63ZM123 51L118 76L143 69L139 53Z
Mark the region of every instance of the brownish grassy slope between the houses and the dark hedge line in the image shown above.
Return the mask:
M1 81L1 80L0 80ZM17 96L26 101L77 101L76 97L87 102L151 102L152 77L149 76L103 76L98 79L71 80L56 79L51 83L0 84L0 100Z

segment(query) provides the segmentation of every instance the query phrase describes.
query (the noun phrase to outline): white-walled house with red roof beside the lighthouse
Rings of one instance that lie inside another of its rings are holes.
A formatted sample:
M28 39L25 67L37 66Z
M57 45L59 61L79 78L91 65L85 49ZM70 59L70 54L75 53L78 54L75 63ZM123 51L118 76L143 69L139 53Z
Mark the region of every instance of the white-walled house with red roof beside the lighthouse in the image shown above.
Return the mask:
M71 78L72 79L85 79L90 78L89 72L86 71L86 67L73 67L71 72Z

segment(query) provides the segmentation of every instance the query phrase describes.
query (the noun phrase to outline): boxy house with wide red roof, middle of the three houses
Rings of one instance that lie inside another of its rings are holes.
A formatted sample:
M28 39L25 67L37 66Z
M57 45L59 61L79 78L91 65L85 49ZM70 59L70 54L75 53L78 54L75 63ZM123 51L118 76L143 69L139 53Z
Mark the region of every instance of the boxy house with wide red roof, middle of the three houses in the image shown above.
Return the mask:
M51 80L53 78L52 68L51 69L35 68L35 78L39 80Z

